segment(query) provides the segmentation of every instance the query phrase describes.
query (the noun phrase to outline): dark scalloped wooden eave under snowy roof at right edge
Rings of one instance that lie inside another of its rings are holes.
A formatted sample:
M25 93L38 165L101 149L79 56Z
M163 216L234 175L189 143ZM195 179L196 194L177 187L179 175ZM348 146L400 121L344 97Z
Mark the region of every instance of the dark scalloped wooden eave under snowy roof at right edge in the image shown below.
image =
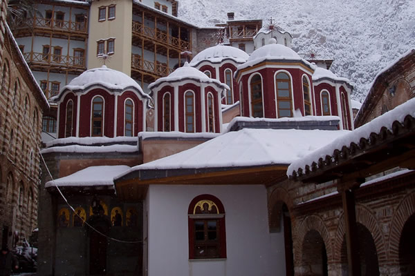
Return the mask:
M326 159L297 170L290 177L303 183L324 183L333 179L363 179L395 167L415 169L415 119L407 116L403 124L395 121L393 131L382 128L361 138L359 144L343 146Z

